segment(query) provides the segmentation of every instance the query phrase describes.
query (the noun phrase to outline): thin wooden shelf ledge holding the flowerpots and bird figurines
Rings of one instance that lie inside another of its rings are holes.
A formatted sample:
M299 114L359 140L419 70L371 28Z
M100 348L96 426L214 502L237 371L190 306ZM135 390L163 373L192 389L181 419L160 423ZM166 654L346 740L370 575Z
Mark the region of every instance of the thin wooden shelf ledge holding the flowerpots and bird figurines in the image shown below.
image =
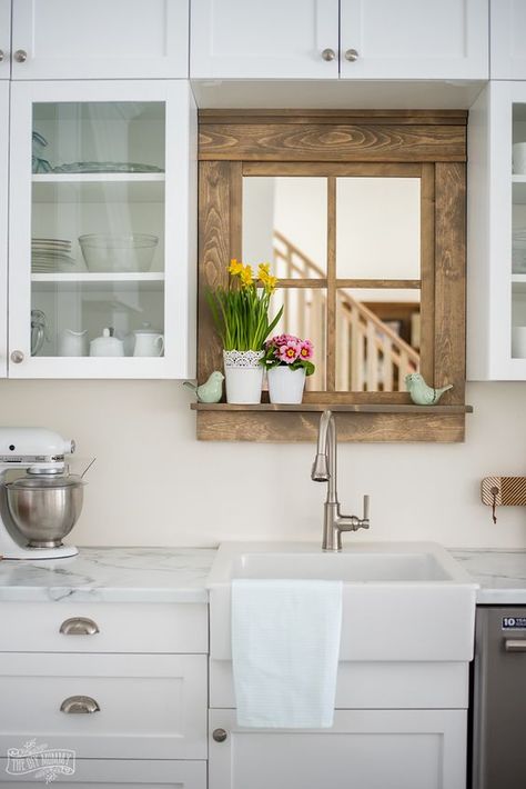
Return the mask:
M408 403L313 403L302 402L299 406L274 405L272 402L261 402L256 406L236 405L230 402L192 402L190 408L193 411L325 411L344 413L473 413L473 406L414 406Z

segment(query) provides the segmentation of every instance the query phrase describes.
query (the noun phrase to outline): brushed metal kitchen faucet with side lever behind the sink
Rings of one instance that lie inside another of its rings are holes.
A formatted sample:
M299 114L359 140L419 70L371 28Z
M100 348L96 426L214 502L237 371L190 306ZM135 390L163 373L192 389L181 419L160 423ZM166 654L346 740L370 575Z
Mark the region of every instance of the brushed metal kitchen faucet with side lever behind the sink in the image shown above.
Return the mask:
M368 529L368 496L364 496L364 516L342 515L336 491L336 421L332 411L324 411L320 419L316 457L312 465L311 479L314 482L327 482L327 498L323 515L324 551L342 550L342 531Z

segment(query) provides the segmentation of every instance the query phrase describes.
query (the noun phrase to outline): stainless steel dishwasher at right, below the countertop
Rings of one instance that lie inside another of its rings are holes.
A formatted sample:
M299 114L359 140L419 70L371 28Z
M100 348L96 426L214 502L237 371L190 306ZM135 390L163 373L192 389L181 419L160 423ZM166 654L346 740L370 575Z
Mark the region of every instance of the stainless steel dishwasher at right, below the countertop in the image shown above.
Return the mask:
M526 606L478 606L472 789L526 787Z

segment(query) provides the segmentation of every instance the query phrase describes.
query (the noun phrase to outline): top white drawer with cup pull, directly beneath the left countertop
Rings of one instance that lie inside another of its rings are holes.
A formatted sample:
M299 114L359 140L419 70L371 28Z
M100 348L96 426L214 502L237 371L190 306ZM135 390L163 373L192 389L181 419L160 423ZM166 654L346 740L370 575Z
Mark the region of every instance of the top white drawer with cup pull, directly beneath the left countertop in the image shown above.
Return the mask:
M205 603L2 602L0 652L206 652ZM93 635L73 635L81 619ZM63 628L64 629L64 628Z

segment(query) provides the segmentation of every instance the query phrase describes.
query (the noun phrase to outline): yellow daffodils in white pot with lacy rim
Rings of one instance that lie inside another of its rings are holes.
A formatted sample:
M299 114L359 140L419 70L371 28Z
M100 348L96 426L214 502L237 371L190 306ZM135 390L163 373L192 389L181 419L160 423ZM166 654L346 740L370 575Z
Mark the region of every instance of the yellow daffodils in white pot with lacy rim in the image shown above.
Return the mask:
M226 401L261 402L265 340L280 320L283 308L269 318L272 294L277 280L270 263L252 267L239 260L229 266L229 286L206 292L218 332L223 342Z

